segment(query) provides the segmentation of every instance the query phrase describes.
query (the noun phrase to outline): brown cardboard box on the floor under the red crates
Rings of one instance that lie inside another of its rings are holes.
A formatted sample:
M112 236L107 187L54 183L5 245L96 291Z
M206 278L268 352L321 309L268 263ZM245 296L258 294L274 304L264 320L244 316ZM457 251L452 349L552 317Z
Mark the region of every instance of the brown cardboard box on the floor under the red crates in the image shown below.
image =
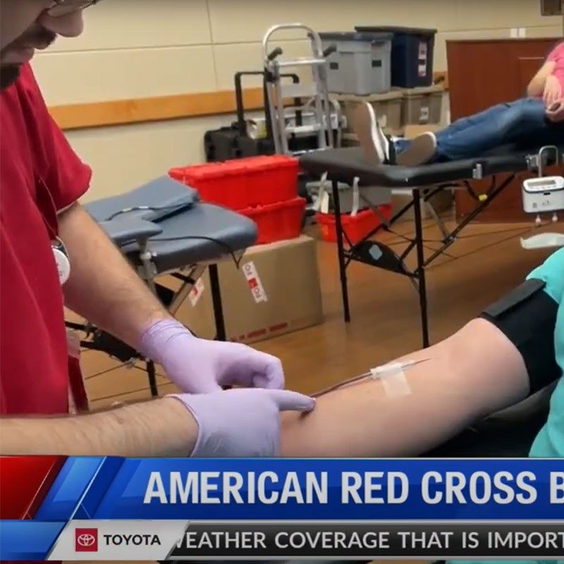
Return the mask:
M252 247L239 269L232 261L218 266L229 341L255 343L323 321L317 243L312 238L302 235ZM214 338L207 272L176 317L197 336Z

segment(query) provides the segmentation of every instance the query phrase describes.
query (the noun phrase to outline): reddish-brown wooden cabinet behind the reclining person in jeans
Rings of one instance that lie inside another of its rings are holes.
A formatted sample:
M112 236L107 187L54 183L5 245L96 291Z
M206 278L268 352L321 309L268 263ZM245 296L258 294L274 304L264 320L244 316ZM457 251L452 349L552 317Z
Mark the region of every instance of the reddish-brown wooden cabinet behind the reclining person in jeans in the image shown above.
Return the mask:
M481 39L447 42L450 118L476 114L479 111L525 96L527 85L562 38L546 39ZM521 185L526 174L517 176L491 203L477 221L522 221ZM498 180L507 176L500 175ZM476 180L477 193L487 190L491 179ZM465 191L455 193L456 215L460 219L476 206ZM529 218L530 219L530 218Z

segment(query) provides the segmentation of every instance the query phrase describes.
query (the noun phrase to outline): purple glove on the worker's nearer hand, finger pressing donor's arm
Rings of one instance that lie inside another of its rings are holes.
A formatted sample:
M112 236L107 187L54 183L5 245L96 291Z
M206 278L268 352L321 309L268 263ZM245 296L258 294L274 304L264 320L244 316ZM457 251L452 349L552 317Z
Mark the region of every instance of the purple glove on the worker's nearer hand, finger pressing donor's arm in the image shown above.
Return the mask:
M238 389L171 396L198 424L192 458L272 457L280 448L280 412L313 410L315 400L288 390Z

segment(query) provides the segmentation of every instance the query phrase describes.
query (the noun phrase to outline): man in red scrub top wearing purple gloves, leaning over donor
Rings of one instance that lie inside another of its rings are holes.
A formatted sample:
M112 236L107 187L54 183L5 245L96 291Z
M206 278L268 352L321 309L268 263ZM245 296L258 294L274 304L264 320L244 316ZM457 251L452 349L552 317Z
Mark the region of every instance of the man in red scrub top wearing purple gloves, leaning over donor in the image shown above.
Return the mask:
M96 3L0 0L0 453L275 455L279 412L314 401L282 389L278 359L192 336L78 203L90 168L49 116L30 60L80 35ZM183 393L69 413L82 380L64 305L161 364Z

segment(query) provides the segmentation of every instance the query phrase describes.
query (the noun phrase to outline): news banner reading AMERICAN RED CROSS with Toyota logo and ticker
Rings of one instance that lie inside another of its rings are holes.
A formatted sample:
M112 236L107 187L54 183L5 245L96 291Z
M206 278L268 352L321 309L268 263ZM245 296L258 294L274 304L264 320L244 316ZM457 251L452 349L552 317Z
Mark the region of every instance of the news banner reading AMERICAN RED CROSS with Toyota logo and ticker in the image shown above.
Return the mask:
M0 472L0 560L564 554L564 460L8 457Z

